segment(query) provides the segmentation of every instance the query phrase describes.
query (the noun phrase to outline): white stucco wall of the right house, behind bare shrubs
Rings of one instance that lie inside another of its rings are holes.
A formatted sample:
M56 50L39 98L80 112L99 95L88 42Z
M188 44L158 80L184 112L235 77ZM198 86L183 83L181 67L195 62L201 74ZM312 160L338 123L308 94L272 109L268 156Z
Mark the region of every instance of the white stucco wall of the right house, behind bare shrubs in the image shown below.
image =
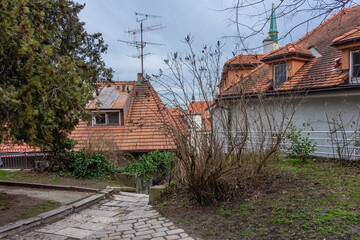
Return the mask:
M281 110L277 106L280 106L280 99L275 100L274 102L268 103L265 107L270 110L269 112L274 114L273 125L279 124L283 118ZM354 132L360 129L360 91L351 89L342 90L337 92L321 92L321 93L312 93L307 94L306 96L299 96L295 100L289 98L283 98L283 101L288 101L288 106L295 105L296 110L293 116L292 122L298 129L303 129L302 134L304 136L309 136L309 139L316 141L317 147L314 155L323 156L323 157L337 157L336 153L336 143L349 144L346 148L341 147L343 154L351 155L351 158L360 158L360 149L355 147L355 141L350 142L350 140L355 140ZM258 104L257 100L252 100L247 103L248 112L251 114L254 109L259 111L259 107L256 107ZM286 104L284 105L286 106ZM289 107L290 108L290 107ZM261 110L260 110L261 111ZM220 112L220 111L218 111ZM340 115L339 115L340 114ZM218 117L216 115L221 115ZM232 107L232 132L235 132L236 124L234 122L241 120L238 118L239 115L236 110L236 105ZM219 134L219 141L224 141L224 112L222 114L214 114L214 129ZM334 126L328 124L327 116L330 121L333 118L337 122L340 122L340 117L345 130L337 131L337 141L336 139ZM226 118L226 117L225 117ZM258 117L252 116L253 122L255 122L251 128L251 131L257 131L256 122L259 120ZM250 121L251 122L251 121ZM332 134L330 134L332 132ZM346 136L344 137L344 133ZM331 137L332 136L332 137ZM347 138L347 140L346 140ZM350 142L350 143L349 143ZM285 140L283 142L283 149L288 146L288 142ZM345 150L344 150L345 149Z

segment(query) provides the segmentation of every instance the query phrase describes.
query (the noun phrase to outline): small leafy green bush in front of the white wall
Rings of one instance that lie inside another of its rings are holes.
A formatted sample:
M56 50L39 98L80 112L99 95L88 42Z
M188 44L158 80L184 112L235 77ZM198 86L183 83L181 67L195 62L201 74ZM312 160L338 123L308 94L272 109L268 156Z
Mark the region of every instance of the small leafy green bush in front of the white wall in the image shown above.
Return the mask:
M310 156L310 153L315 152L316 142L310 140L308 136L303 137L301 131L294 124L290 124L286 135L286 138L290 140L290 147L287 150L305 160Z

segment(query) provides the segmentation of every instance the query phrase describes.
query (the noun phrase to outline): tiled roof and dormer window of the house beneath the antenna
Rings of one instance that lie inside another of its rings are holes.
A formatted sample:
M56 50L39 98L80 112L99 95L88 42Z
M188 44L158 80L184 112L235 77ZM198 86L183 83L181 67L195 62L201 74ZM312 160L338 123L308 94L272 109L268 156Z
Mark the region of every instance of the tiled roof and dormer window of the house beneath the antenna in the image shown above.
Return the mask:
M174 120L149 81L103 83L87 109L92 119L80 122L70 135L78 142L76 150L141 154L176 148L167 128Z

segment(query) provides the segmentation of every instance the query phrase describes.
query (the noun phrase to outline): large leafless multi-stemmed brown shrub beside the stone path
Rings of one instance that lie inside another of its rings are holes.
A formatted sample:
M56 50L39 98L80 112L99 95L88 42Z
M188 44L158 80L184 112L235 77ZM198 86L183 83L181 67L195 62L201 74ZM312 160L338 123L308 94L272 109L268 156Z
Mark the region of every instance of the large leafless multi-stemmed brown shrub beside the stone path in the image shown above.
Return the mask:
M251 93L258 79L234 86L232 97L217 96L221 79L221 45L205 46L199 53L185 39L189 54L172 54L164 62L169 73L160 71L152 80L167 104L179 109L174 121L164 124L176 139L175 177L195 200L207 204L235 196L245 185L254 184L269 160L279 150L296 104L295 95L265 96ZM211 130L176 124L183 116L189 126L197 122L186 111L194 98L205 101ZM211 101L215 103L211 105ZM175 124L174 124L175 123Z

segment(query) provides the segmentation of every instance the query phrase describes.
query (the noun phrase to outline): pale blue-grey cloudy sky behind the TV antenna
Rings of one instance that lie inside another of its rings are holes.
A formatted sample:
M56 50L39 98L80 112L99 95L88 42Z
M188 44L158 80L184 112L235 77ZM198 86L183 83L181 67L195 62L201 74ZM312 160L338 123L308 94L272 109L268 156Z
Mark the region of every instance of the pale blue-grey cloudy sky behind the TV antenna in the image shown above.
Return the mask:
M236 34L235 25L228 20L233 15L229 11L220 11L231 7L233 0L78 0L77 2L86 4L80 13L80 20L85 22L85 29L89 33L102 33L105 43L108 44L107 54L103 58L106 65L114 70L115 81L136 80L137 73L141 72L140 60L132 57L139 55L139 50L118 41L134 40L126 31L140 28L135 12L161 16L144 21L144 27L157 24L166 27L144 33L144 41L163 44L145 47L145 53L151 53L144 58L144 69L147 74L156 74L160 68L164 68L163 59L166 59L170 53L186 53L187 48L183 39L188 34L194 39L195 50L200 51L203 45L215 45L220 40L224 45L222 61L225 62L233 56L235 40L224 38ZM270 13L271 1L265 0L262 7ZM260 10L250 9L250 11L256 13ZM251 21L254 19L246 16L241 19L241 22L247 25L251 25ZM278 19L280 34L287 31L286 22L288 19ZM267 23L264 30L246 44L261 46L268 29ZM293 37L299 38L301 35ZM136 37L136 40L140 40L140 35ZM287 37L281 41L285 44L290 40ZM254 50L255 53L261 51L261 48Z

